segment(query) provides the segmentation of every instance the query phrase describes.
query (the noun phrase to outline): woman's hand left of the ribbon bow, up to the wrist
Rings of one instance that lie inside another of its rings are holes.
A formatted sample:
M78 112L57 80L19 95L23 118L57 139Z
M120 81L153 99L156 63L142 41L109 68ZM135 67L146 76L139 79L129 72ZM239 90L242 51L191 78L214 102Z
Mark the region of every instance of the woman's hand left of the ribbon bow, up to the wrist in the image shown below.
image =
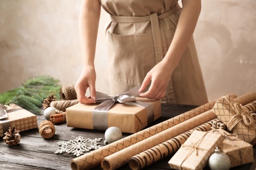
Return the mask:
M94 67L83 68L81 75L79 76L75 84L75 92L77 93L77 99L80 103L92 104L96 103L96 90L95 90L96 73ZM85 93L87 89L90 90L91 97L86 97Z

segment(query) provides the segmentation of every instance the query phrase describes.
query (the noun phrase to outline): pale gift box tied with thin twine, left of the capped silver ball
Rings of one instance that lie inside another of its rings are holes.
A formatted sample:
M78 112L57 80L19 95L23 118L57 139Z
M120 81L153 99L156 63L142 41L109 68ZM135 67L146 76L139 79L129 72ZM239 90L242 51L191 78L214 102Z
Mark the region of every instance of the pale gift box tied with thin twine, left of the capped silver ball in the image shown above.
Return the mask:
M168 163L173 169L203 169L222 142L221 134L194 131Z

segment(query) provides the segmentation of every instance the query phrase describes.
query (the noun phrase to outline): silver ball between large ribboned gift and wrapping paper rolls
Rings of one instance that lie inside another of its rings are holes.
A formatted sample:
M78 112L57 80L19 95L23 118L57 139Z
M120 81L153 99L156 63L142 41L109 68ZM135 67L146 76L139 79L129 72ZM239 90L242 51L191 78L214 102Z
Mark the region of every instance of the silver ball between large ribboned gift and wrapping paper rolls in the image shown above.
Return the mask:
M105 143L113 143L122 138L122 132L118 127L108 127L105 131Z

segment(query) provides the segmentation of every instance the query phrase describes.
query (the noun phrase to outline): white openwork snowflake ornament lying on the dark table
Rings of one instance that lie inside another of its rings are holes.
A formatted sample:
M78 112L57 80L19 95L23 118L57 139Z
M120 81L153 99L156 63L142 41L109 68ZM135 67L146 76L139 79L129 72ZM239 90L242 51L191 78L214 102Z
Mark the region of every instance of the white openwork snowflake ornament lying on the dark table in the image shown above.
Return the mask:
M74 140L70 140L68 142L57 143L59 149L54 152L55 154L74 154L75 156L80 156L85 152L90 152L91 150L95 150L100 148L101 146L98 143L102 141L102 138L85 138L82 136L75 137Z

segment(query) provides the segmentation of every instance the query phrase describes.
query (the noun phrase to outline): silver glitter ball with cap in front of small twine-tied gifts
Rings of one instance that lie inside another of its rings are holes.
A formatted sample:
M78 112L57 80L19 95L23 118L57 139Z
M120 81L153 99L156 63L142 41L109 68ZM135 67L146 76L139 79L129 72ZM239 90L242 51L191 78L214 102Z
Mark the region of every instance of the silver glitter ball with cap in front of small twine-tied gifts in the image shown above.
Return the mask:
M228 156L221 152L219 148L215 148L215 153L213 153L209 158L209 167L211 170L228 170L230 169L230 159Z

